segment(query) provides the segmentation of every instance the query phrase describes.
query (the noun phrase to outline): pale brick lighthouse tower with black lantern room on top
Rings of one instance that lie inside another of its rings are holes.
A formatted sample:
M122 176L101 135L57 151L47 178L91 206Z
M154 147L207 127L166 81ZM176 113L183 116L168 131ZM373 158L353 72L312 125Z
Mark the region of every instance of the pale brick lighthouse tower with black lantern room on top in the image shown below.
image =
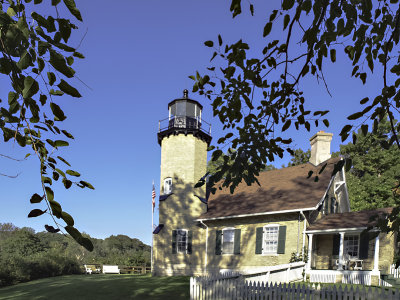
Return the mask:
M210 125L202 105L188 98L168 104L159 122L161 146L159 225L153 233L153 275L200 274L204 267L205 230L196 219L206 212L205 185L194 188L207 171Z

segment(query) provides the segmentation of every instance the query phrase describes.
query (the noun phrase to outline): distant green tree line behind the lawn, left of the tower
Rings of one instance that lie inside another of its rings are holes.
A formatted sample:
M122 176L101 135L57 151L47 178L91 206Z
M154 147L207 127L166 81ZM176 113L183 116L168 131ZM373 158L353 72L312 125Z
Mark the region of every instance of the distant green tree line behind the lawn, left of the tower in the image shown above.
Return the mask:
M0 287L81 274L84 264L150 265L150 246L138 239L112 235L104 240L91 240L94 250L89 252L68 235L35 233L32 228L0 223Z

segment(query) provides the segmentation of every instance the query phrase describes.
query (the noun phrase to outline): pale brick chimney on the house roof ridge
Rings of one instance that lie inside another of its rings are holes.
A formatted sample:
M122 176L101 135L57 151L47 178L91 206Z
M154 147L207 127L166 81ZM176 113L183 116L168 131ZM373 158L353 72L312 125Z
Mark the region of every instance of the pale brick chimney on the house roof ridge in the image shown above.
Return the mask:
M317 166L325 160L331 158L332 133L318 131L310 139L311 157L310 163Z

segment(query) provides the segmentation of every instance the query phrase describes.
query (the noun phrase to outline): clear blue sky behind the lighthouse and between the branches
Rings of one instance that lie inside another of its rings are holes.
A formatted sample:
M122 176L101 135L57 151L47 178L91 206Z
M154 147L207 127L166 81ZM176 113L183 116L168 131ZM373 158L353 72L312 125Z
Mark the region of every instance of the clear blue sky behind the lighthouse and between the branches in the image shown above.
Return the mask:
M271 8L267 1L254 1L255 16L245 13L232 19L230 1L79 1L84 23L72 40L86 59L74 65L83 97L63 96L58 104L68 119L64 128L75 136L61 156L71 162L96 190L54 187L56 199L74 218L77 228L93 237L126 234L151 243L151 188L156 183L159 195L160 147L157 143L158 120L168 116L167 104L191 90L189 75L204 72L210 65L212 50L204 41L215 40L221 33L224 41L243 39L261 48L263 24ZM247 3L247 2L245 2ZM77 22L76 22L77 23ZM85 35L86 32L86 35ZM346 116L356 112L359 100L374 96L380 81L363 86L349 79L351 66L338 49L337 63L325 66L330 97L315 80L303 82L305 95L313 109L329 109L330 128L290 130L295 148L309 148L309 138L317 130L334 134L332 151L339 149L338 134ZM346 75L343 75L346 74ZM376 75L376 76L379 76ZM378 77L377 77L378 78ZM6 98L4 76L0 97ZM212 118L210 102L189 94L204 106L203 118L212 123L214 141L221 126ZM22 158L27 149L13 143L0 143L0 153ZM274 162L281 166L289 156ZM43 230L47 217L28 219L33 205L30 196L41 193L39 165L31 156L24 162L0 158L0 172L18 178L0 177L0 222ZM157 218L155 218L157 223Z

